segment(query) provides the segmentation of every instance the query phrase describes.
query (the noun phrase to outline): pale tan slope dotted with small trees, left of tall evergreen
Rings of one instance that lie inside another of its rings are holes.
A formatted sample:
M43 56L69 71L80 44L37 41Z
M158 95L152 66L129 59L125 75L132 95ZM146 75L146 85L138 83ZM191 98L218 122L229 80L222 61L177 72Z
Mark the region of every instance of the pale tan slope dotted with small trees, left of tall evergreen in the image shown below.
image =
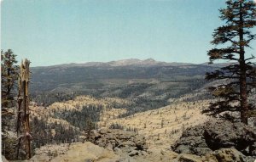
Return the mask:
M122 119L109 120L107 126L118 123L138 130L138 134L146 137L149 148L170 148L184 129L196 126L208 120L201 115L201 109L209 101L195 103L174 103L160 109L149 110Z

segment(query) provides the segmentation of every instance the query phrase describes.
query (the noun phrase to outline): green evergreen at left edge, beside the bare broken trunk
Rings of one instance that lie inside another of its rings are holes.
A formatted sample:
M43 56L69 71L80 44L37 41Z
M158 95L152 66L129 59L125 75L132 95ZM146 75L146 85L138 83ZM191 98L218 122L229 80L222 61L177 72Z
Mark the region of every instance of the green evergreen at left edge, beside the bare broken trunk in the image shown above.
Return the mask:
M9 137L6 133L11 128L10 120L14 113L9 111L9 107L14 105L14 88L18 79L18 66L16 55L12 50L3 52L1 50L1 117L2 117L2 154L7 159L14 159L16 138Z

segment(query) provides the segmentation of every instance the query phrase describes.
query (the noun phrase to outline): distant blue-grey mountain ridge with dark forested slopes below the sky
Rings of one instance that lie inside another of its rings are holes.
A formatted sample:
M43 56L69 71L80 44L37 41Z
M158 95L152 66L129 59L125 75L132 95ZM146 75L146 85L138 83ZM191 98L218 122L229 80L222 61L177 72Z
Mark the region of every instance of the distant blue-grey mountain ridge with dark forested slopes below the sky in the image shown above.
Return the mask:
M33 84L30 88L33 94L49 92L69 95L70 92L75 92L96 98L147 100L155 107L156 104L165 105L169 98L178 98L204 87L206 72L223 66L224 64L166 63L154 59L58 64L32 67Z

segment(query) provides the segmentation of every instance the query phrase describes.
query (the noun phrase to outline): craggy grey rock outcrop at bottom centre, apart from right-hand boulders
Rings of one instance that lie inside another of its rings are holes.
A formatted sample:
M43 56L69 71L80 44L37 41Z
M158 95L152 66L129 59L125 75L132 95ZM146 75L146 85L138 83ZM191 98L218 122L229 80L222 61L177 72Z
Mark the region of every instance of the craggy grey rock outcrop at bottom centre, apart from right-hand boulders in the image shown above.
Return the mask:
M129 156L145 154L148 149L145 138L133 131L115 129L92 131L90 142L115 152L125 152Z

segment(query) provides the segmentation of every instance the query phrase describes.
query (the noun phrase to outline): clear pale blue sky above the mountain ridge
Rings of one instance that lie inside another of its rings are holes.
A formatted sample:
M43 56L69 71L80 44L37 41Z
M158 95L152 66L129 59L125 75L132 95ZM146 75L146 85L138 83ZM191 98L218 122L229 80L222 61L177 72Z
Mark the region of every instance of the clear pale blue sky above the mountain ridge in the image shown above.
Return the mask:
M224 6L224 0L3 0L1 48L32 66L131 58L203 63Z

